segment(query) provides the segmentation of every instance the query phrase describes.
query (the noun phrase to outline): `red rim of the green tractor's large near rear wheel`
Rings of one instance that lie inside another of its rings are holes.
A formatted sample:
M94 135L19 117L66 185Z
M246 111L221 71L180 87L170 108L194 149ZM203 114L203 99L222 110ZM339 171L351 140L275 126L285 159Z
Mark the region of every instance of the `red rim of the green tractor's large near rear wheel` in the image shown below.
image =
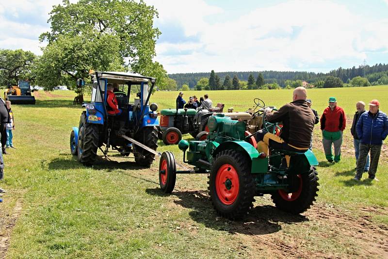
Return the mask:
M223 204L233 204L237 199L240 190L239 175L230 164L224 164L218 169L215 190Z

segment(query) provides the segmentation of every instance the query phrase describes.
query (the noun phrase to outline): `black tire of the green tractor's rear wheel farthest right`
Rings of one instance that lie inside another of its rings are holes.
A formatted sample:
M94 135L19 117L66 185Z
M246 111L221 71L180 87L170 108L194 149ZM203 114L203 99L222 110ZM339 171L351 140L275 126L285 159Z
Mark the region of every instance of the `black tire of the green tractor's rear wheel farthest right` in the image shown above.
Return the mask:
M285 197L287 193L281 190L272 194L271 198L278 209L292 214L299 214L309 209L316 200L319 178L315 167L311 166L308 173L294 176L294 179L299 179L299 181L294 181L296 186L292 187L293 192L288 198ZM302 186L300 186L300 183L302 183ZM292 197L294 194L297 194L297 196Z

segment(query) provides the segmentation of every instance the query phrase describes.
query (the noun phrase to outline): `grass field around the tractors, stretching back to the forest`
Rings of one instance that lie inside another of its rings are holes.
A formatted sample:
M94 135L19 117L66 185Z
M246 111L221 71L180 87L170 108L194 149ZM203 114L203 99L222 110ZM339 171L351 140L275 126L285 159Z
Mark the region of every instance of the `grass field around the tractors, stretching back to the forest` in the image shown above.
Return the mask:
M210 99L244 111L259 97L280 107L291 90L209 91ZM187 92L199 97L205 92ZM175 106L178 92L157 92L160 109ZM314 153L320 191L300 216L277 210L268 195L257 197L242 221L218 217L206 175L179 175L171 195L159 191L158 165L99 159L93 168L70 154L69 134L82 109L71 91L35 93L36 105L14 105L16 150L4 156L8 192L0 203L0 258L388 258L388 164L382 155L377 178L355 182L350 125L343 159L324 161L318 127ZM388 86L308 90L322 113L335 96L349 122L358 100L373 98L388 112ZM189 135L184 138L190 139ZM182 162L177 146L173 151ZM387 150L387 140L384 145Z

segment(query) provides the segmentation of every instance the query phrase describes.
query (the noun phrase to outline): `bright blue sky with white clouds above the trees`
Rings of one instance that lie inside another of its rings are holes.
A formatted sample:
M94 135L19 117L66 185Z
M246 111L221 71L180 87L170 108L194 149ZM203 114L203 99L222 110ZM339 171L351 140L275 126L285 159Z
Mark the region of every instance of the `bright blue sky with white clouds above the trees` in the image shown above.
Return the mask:
M75 2L76 0L71 0ZM0 49L42 54L52 5L0 0ZM388 63L388 0L145 0L169 74L313 71Z

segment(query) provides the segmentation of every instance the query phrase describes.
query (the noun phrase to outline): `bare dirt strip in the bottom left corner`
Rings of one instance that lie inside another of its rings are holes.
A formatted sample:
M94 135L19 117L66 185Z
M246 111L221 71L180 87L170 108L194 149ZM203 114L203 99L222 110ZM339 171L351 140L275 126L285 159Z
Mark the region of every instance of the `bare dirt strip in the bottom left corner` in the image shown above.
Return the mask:
M0 225L0 258L5 258L9 244L11 242L12 230L15 227L16 220L22 210L21 199L16 200L12 214L4 215Z

